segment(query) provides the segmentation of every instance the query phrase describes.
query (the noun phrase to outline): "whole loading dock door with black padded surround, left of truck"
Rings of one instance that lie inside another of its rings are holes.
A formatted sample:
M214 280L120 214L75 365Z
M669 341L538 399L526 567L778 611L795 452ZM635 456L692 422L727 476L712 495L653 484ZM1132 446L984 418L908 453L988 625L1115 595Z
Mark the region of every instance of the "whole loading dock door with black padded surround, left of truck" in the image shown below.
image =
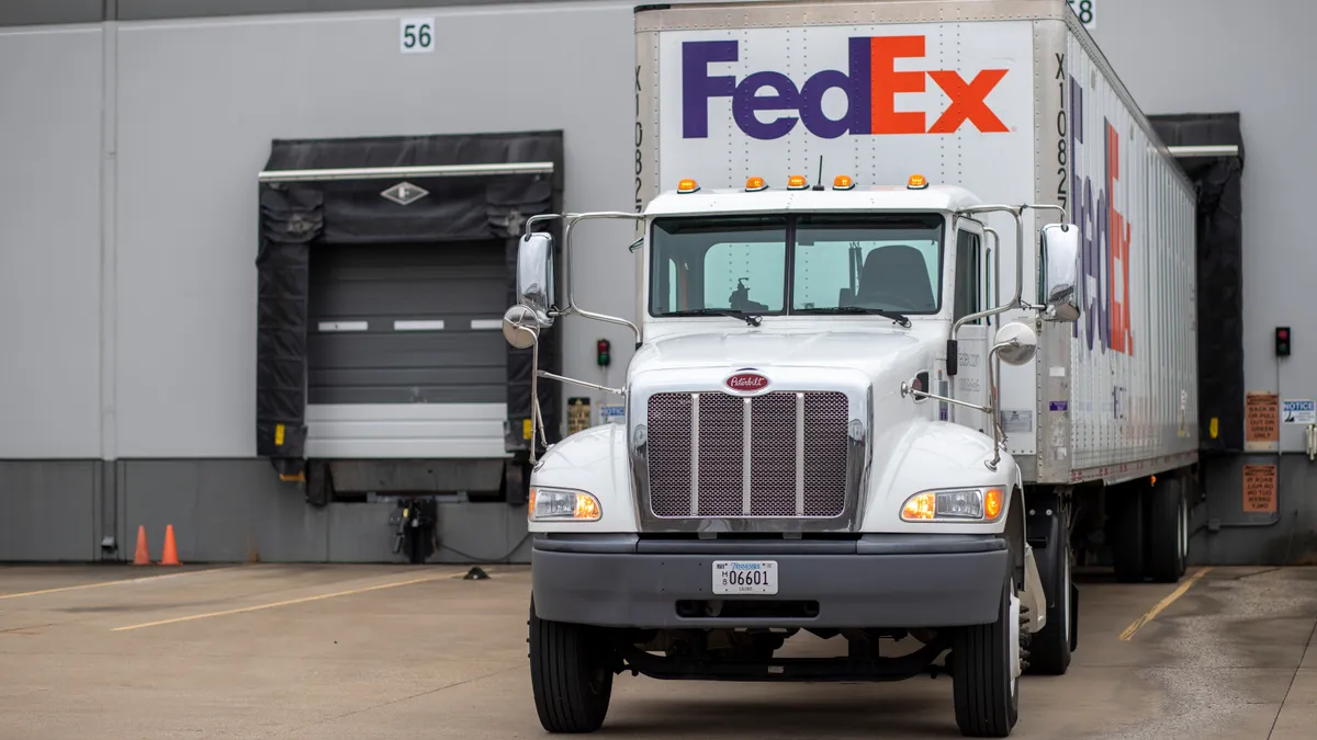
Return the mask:
M284 479L336 458L367 473L494 469L524 489L531 352L502 340L500 319L522 229L561 212L562 174L553 130L271 142L258 175L257 454ZM561 240L557 224L537 228ZM540 341L551 373L557 334ZM552 444L561 391L537 390ZM392 460L358 465L371 458Z

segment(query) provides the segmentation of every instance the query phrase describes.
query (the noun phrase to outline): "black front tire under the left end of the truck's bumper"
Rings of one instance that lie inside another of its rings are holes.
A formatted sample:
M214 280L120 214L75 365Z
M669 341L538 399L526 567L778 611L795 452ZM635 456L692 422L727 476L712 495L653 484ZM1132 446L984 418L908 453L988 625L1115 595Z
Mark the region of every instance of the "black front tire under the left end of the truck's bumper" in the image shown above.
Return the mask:
M607 640L598 628L548 621L531 600L531 690L540 724L549 732L594 732L612 698Z

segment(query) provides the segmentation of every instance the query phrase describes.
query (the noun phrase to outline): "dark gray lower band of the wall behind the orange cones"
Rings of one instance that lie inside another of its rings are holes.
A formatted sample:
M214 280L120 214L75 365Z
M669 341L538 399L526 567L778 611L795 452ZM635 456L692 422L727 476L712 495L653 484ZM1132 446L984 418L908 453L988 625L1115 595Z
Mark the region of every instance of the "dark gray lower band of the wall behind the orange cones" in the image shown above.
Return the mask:
M169 524L183 562L406 562L395 508L311 507L261 460L0 462L0 562L130 561L138 527L159 560ZM439 516L431 562L529 562L524 506L441 503Z

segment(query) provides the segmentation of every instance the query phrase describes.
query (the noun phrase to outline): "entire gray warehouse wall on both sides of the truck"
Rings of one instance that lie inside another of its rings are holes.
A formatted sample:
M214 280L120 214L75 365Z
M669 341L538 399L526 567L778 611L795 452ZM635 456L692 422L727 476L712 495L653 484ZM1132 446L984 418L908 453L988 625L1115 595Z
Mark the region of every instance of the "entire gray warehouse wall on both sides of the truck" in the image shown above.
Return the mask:
M1092 33L1148 113L1242 113L1247 384L1277 387L1271 332L1285 324L1296 340L1279 387L1317 396L1317 324L1297 300L1317 254L1291 236L1317 170L1317 93L1291 82L1317 62L1317 7L1096 5ZM566 208L630 209L631 7L0 5L0 560L99 557L107 535L130 557L137 524L158 549L167 521L184 560L391 560L386 504L312 510L253 458L254 178L269 140L561 128ZM427 8L439 49L399 54L398 18L417 11L373 8ZM632 316L630 241L626 226L582 226L583 307ZM606 381L620 378L626 330L576 319L554 330L569 375L601 379L593 346L607 337ZM1284 448L1301 444L1287 429ZM1234 528L1249 519L1242 462L1209 470L1196 524L1222 528L1198 533L1196 558L1317 552L1313 463L1288 454L1280 514ZM503 554L523 533L520 510L445 507L445 535L469 537L450 540L468 553Z

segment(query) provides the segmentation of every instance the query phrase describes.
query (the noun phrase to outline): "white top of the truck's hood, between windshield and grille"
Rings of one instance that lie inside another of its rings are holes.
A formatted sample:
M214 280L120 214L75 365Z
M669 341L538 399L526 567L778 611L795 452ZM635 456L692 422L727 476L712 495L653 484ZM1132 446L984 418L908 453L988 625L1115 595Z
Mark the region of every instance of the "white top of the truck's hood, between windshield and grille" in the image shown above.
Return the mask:
M932 337L907 330L710 332L655 340L636 353L631 373L697 367L846 367L871 378L930 369Z

